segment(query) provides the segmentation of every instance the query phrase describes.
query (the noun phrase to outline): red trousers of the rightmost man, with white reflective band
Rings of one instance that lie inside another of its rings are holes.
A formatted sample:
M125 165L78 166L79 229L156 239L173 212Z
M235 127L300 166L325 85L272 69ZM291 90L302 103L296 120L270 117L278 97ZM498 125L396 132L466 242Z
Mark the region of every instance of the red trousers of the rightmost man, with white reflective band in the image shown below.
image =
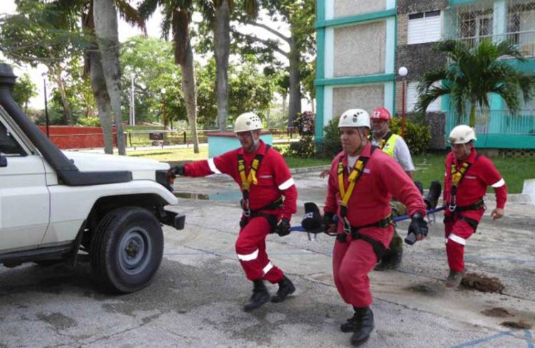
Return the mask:
M452 271L462 272L464 270L464 245L474 234L474 229L466 221L459 219L459 215L454 215L450 219L444 220L448 265Z

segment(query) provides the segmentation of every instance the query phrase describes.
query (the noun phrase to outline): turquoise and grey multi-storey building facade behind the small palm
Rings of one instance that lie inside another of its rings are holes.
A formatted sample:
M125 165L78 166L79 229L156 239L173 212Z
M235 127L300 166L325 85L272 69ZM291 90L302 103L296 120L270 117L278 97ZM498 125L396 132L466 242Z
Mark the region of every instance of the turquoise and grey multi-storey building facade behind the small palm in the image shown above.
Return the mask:
M447 64L433 50L442 39L477 44L511 40L528 57L515 64L535 74L535 0L317 0L317 139L322 127L350 107L392 114L410 113L417 81L425 71ZM397 75L407 67L407 76ZM404 100L403 100L404 96ZM446 134L459 123L443 96L427 109L432 148L444 148ZM535 149L535 102L511 116L491 95L491 110L478 112L477 146Z

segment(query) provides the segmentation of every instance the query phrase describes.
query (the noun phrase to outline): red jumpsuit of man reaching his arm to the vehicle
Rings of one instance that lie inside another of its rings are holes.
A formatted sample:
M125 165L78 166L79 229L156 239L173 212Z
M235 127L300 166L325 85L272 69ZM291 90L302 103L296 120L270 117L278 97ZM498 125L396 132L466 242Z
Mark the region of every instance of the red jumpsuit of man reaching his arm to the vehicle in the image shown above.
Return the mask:
M238 171L238 154L245 160L245 174L249 174L250 164L256 154L264 154L260 167L256 173L257 184L251 184L249 191L250 209L255 211L277 201L281 196L284 203L280 209L265 211L274 214L277 221L285 217L290 220L297 211L297 189L295 188L290 169L284 158L275 149L266 152L266 144L260 140L258 150L249 154L243 148L228 151L213 159L196 161L185 164L185 175L188 177L205 177L210 174L224 173L233 177L240 185L241 178ZM265 251L265 238L270 234L271 226L265 217L252 217L249 223L240 229L236 240L236 254L249 280L265 279L271 283L282 280L282 270L273 266Z

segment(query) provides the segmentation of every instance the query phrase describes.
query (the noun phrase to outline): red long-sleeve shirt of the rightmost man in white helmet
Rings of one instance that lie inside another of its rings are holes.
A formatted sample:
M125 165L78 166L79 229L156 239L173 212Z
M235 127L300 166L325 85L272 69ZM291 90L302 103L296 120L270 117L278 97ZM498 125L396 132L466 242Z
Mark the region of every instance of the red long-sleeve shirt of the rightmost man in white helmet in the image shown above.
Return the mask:
M477 156L475 149L465 159L470 166L457 187L457 206L469 206L483 199L486 187L493 187L496 193L496 208L504 209L507 200L507 187L492 161L485 156ZM453 152L446 156L446 174L444 179L444 202L449 204L452 192L452 164L457 170L463 161L457 161Z

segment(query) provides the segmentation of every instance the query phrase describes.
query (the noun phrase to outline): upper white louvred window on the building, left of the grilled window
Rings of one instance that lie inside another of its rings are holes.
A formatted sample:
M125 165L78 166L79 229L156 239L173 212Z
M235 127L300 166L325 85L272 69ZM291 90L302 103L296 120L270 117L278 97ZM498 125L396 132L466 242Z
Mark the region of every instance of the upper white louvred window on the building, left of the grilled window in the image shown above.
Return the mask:
M440 11L409 14L407 44L423 44L441 39L442 21Z

